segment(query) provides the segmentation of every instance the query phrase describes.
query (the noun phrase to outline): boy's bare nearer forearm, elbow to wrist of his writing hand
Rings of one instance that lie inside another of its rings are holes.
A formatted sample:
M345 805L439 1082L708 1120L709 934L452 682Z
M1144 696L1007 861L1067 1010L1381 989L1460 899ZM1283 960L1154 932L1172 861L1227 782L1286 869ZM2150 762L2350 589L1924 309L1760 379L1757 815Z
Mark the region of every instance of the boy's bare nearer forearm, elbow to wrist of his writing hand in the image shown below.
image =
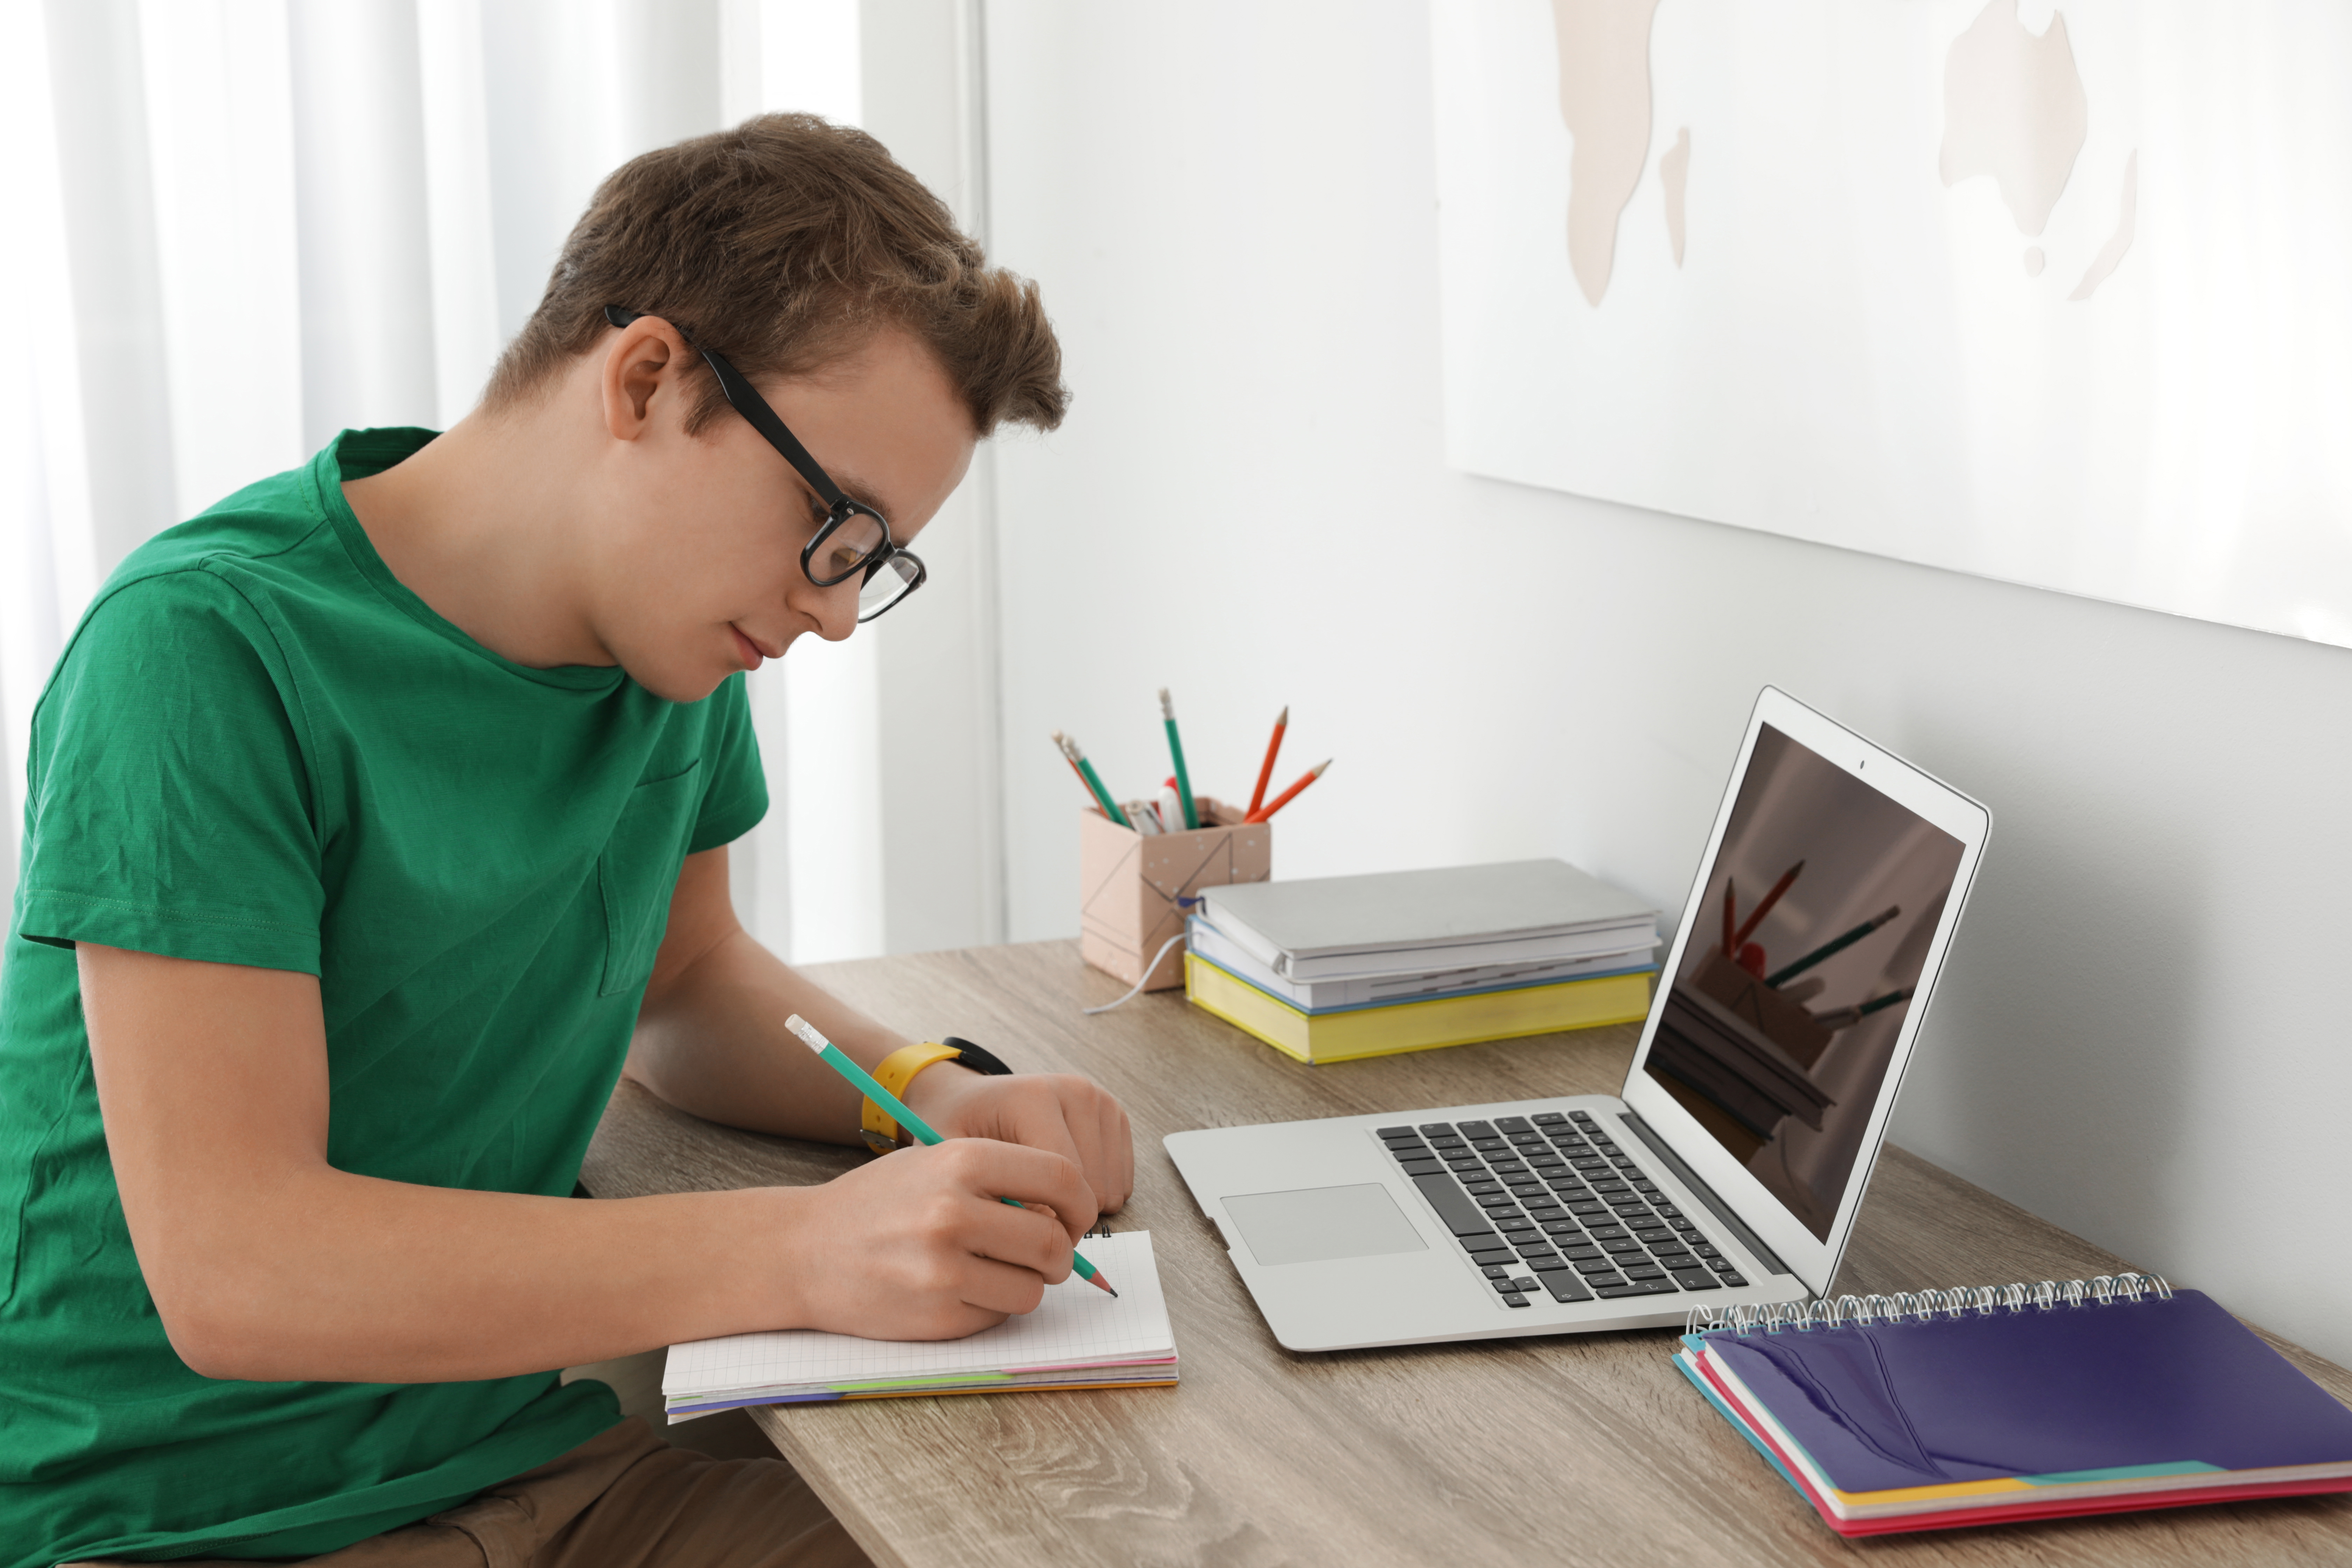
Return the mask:
M797 1251L804 1190L581 1201L318 1166L247 1201L172 1248L200 1276L151 1269L174 1347L207 1378L508 1378L804 1312L788 1272L762 1267Z

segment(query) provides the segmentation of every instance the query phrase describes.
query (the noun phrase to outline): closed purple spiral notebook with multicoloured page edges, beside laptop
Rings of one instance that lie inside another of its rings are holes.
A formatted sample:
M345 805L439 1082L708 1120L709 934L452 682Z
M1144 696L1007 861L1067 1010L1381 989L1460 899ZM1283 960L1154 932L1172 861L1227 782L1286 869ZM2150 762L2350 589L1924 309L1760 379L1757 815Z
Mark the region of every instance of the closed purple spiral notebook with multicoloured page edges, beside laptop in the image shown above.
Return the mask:
M1675 1366L1839 1535L2352 1490L2352 1410L2147 1274L1717 1316Z

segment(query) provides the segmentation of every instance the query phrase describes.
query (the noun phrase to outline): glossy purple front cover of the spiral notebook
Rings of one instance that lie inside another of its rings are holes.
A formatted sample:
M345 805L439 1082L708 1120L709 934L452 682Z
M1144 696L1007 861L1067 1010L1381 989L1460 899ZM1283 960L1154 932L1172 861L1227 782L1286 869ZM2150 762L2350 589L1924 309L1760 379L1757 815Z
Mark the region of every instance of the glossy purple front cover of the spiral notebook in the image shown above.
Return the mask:
M1703 1338L1842 1493L2352 1462L2352 1410L2199 1291Z

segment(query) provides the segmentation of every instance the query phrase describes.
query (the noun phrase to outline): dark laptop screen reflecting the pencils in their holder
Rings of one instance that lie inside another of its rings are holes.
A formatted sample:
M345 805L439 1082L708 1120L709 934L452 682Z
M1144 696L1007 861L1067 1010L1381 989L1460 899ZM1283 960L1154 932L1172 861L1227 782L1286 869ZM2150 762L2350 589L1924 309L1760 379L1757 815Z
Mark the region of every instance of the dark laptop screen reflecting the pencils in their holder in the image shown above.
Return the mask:
M1959 860L1950 832L1757 731L1644 1070L1823 1241Z

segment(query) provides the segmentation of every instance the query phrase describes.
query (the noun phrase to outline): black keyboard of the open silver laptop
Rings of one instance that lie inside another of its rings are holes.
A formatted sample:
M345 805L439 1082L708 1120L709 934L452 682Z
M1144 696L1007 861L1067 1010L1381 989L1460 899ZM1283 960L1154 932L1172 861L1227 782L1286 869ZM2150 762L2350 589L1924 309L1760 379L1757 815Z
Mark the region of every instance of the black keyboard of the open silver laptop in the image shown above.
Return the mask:
M1590 1112L1378 1133L1505 1307L1748 1284Z

